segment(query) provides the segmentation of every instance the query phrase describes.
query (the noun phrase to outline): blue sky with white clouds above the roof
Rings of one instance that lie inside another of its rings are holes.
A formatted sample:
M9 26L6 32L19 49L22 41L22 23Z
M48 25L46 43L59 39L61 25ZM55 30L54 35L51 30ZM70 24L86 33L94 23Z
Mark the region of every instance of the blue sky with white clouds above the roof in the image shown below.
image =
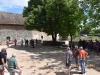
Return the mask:
M29 0L0 0L0 11L22 14Z

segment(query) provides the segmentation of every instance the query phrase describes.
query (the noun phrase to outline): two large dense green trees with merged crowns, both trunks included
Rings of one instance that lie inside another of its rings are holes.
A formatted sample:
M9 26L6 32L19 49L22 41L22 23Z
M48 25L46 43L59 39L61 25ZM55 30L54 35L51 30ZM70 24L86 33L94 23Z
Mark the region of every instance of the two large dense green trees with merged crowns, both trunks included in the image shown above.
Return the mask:
M84 17L78 0L30 0L24 7L26 29L36 29L52 35L56 43L57 34L72 37L79 32Z

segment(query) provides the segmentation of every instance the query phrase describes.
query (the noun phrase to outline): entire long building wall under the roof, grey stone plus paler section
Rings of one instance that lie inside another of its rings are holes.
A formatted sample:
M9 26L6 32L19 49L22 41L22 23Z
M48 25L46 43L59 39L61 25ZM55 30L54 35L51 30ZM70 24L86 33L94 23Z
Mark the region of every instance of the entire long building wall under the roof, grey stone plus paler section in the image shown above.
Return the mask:
M6 42L7 38L10 40L20 39L37 39L42 41L51 41L52 36L47 35L45 32L36 30L25 30L23 25L0 25L0 43ZM58 39L57 39L58 40Z

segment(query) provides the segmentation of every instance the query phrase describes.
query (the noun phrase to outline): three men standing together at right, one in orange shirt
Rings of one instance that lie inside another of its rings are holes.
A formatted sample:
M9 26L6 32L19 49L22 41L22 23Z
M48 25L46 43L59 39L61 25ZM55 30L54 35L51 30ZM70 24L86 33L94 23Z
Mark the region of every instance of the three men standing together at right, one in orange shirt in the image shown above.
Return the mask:
M67 53L66 53L66 66L68 67L68 75L71 73L71 63L72 58L75 59L76 63L76 69L79 70L79 64L81 67L81 72L79 74L84 74L85 71L85 60L88 55L88 52L83 49L83 47L75 46L73 51L70 49L70 47L67 47Z

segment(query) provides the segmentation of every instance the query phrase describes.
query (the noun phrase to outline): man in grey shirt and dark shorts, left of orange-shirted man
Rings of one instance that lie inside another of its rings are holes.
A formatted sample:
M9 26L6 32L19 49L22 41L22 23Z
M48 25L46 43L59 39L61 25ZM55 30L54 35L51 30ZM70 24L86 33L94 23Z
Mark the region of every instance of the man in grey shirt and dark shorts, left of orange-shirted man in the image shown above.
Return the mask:
M68 47L66 53L66 66L68 67L68 75L70 75L71 72L71 63L72 63L72 51Z

